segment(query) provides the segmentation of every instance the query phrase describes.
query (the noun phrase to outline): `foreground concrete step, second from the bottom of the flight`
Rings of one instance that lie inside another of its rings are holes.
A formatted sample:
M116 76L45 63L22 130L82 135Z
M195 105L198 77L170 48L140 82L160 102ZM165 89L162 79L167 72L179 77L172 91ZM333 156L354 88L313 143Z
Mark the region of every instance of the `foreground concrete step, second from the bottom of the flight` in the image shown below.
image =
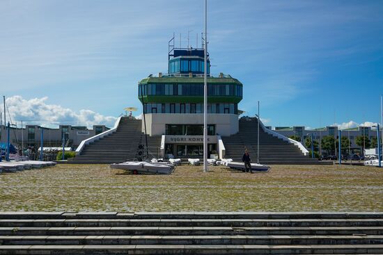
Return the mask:
M1 245L383 245L383 236L0 236Z

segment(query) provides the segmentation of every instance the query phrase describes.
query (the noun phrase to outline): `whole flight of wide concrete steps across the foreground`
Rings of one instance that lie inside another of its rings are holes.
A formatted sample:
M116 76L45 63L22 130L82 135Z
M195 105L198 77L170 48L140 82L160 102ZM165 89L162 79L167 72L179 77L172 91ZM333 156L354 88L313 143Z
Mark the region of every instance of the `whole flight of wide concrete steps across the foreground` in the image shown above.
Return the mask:
M0 213L0 254L383 254L383 213Z

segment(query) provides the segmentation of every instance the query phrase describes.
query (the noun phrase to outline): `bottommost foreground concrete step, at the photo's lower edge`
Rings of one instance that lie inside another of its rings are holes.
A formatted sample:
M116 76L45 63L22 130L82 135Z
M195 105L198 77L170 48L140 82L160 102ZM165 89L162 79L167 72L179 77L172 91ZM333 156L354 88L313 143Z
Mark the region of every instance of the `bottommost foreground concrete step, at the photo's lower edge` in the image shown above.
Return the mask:
M383 245L3 245L0 254L377 254Z

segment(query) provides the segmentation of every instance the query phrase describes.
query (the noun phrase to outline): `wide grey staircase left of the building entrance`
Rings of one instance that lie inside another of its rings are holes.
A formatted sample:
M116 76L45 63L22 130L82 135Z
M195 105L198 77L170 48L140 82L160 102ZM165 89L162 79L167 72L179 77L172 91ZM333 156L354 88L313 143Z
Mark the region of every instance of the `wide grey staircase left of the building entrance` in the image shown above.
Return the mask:
M143 138L141 120L122 117L115 133L86 145L81 154L68 163L109 164L134 159Z

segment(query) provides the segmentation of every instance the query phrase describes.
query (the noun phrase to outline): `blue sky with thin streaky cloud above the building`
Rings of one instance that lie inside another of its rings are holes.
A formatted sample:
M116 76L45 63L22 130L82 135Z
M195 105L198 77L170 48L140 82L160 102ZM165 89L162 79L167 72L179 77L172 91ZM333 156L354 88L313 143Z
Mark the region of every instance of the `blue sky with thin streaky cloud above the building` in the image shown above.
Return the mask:
M196 47L204 1L0 0L0 95L13 122L113 126L137 83ZM383 1L208 0L212 74L269 126L380 122ZM180 40L181 39L181 40ZM199 46L201 43L198 42Z

